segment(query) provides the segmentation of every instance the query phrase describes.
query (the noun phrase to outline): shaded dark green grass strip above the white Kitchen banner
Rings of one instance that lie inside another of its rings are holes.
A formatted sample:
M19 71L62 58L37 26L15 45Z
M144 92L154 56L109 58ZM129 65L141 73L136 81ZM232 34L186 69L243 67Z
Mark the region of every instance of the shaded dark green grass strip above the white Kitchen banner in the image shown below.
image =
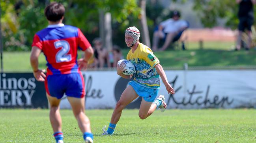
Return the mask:
M255 65L256 51L219 51L219 50L187 50L156 52L161 65L181 67L189 66L228 66Z

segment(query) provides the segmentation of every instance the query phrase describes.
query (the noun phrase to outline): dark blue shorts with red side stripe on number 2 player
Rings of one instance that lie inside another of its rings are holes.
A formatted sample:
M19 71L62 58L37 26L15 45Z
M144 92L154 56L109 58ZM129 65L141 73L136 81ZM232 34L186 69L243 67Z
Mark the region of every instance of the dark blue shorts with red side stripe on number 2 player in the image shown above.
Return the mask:
M47 93L58 99L64 96L83 98L85 95L84 78L82 73L47 75L45 78Z

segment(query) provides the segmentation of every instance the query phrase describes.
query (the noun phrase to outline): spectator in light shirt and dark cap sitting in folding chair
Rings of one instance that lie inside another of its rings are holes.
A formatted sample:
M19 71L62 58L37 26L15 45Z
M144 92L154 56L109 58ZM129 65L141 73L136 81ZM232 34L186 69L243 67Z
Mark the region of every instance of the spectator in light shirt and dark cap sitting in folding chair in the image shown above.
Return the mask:
M158 50L158 43L160 39L165 39L163 47L159 49L159 51L164 51L177 34L188 28L188 23L185 20L180 20L179 18L179 11L173 11L172 18L169 18L159 24L157 31L153 33L153 51Z

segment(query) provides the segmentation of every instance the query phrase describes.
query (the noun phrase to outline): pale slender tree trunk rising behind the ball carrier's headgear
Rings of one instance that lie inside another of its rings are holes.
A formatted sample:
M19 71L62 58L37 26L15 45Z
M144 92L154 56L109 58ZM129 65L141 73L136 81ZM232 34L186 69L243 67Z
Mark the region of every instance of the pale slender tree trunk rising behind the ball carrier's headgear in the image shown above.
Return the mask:
M149 38L149 32L148 32L148 24L147 24L147 16L146 16L146 0L140 0L140 14L141 14L141 19L140 19L140 36L142 38L142 43L147 45L148 47L151 47L150 45L150 38Z

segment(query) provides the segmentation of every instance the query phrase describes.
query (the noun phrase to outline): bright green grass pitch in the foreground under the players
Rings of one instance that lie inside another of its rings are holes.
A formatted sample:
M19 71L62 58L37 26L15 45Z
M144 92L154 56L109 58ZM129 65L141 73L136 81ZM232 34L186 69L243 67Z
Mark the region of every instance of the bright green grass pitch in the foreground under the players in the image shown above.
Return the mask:
M86 110L95 143L255 143L255 109L156 110L141 120L123 110L113 136L101 136L113 110ZM71 110L61 110L65 143L82 143ZM1 109L1 143L54 143L49 110Z

